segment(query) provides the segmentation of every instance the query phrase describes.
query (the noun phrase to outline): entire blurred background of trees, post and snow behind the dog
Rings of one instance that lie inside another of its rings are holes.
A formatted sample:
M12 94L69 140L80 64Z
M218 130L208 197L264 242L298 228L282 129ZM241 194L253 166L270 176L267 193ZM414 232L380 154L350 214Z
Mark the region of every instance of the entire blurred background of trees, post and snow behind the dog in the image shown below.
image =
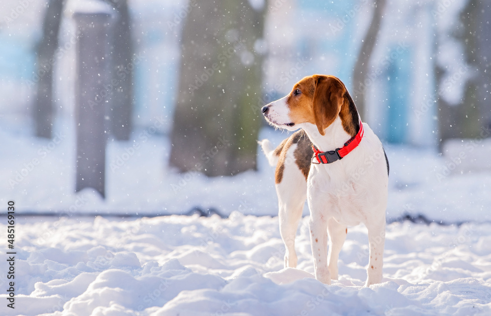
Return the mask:
M256 141L288 133L259 109L330 74L384 143L389 220L491 220L487 1L0 0L0 12L1 203L275 215Z

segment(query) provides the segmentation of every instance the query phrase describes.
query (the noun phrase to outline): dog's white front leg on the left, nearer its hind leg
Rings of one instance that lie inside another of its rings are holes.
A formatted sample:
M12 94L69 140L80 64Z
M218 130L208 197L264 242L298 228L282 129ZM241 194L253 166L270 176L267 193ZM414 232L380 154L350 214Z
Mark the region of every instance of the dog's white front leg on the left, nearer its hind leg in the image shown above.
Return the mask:
M327 268L327 218L324 210L310 210L309 230L310 245L314 258L315 278L322 283L331 284L331 276Z

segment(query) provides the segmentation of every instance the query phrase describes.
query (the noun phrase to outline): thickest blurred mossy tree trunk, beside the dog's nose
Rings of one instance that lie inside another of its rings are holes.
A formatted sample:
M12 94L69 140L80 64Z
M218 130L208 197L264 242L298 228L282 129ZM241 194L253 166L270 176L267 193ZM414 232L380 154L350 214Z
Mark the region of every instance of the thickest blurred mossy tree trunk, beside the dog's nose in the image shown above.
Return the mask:
M257 3L257 1L256 1ZM183 26L170 164L208 176L256 168L266 4L191 0ZM256 52L256 53L253 53Z

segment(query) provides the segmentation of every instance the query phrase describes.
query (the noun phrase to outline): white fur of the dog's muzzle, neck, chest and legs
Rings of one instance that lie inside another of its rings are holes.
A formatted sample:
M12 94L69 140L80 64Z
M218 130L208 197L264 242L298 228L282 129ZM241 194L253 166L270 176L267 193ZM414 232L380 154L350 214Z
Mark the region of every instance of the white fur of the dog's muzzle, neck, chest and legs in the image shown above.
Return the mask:
M277 127L296 130L297 125L283 125L291 122L284 100L273 102L265 116ZM339 117L327 127L324 136L313 124L304 123L301 127L321 151L341 148L351 138ZM347 156L330 164L312 164L306 184L293 161L285 163L283 179L276 184L280 232L286 247L285 267L297 265L295 235L306 198L315 277L326 284L338 277L337 260L347 226L359 223L368 229L370 247L365 286L382 281L387 167L379 138L366 123L363 128L360 144ZM296 145L288 149L287 157L293 155L295 148Z

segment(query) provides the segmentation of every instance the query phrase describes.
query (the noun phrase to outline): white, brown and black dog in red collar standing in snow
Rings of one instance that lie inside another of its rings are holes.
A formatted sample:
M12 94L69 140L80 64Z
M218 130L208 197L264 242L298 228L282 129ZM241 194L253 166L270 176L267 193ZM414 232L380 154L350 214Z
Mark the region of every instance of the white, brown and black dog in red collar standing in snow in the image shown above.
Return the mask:
M305 77L261 111L276 128L301 129L276 149L267 139L259 142L276 164L285 267L297 266L295 235L307 199L315 278L325 284L337 280L347 227L363 223L370 257L365 286L380 283L389 163L379 138L361 123L346 86L333 76Z

